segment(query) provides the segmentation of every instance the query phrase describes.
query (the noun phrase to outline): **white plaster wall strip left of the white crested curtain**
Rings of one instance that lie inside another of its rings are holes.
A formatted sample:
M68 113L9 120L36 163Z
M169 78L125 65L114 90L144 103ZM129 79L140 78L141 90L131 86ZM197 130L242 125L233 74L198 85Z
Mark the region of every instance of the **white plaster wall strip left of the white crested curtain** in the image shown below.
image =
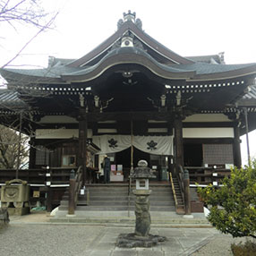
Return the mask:
M78 138L78 129L37 129L36 139L69 139ZM92 130L88 129L88 138L92 138Z

